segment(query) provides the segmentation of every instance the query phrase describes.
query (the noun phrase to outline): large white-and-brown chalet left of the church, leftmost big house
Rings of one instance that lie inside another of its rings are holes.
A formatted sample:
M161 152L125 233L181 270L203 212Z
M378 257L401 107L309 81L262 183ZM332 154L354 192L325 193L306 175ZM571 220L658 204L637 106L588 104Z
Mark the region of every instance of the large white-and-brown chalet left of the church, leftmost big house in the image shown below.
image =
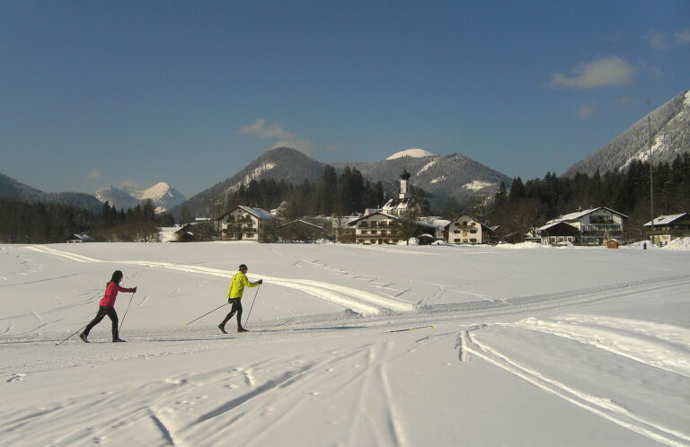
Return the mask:
M242 205L218 216L217 220L221 223L224 241L270 241L279 222L276 216L266 210Z

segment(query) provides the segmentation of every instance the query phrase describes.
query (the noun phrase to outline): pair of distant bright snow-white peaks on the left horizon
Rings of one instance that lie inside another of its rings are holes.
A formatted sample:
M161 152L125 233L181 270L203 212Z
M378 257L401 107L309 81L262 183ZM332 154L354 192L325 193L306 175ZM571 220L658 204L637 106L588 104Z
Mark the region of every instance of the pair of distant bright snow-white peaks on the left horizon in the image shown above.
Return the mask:
M151 188L115 188L112 185L100 188L95 196L102 203L106 201L116 208L133 208L143 201L151 200L156 213L164 213L186 200L181 192L164 181L156 183Z

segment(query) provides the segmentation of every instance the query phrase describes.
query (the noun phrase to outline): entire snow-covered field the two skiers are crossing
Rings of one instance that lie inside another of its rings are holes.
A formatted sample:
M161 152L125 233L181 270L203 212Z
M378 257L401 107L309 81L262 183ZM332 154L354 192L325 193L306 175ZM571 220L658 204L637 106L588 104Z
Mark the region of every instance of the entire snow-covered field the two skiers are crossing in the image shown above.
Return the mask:
M0 444L690 445L690 250L523 248L0 246Z

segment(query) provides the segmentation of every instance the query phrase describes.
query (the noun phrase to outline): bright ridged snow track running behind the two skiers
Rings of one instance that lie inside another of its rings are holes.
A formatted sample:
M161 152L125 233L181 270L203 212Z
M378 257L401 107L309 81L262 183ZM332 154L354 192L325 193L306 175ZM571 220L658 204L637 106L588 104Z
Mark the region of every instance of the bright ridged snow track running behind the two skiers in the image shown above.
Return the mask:
M27 246L26 248L49 253L56 255L65 259L70 259L75 262L117 262L121 264L130 264L141 267L158 267L173 270L180 270L187 273L197 273L203 275L212 276L222 276L222 277L232 277L235 271L223 270L213 267L199 267L184 264L173 264L170 262L156 262L156 261L142 261L142 260L122 260L122 261L103 261L101 259L93 259L83 255L75 255L73 253L67 253L65 251L56 250L51 247L40 246ZM141 270L137 274L131 276L136 277L141 273ZM252 274L252 276L261 276L259 274ZM372 294L369 292L361 291L352 287L347 287L344 285L334 285L329 283L323 283L321 281L314 281L308 279L289 279L289 278L279 278L274 276L261 276L263 279L270 281L271 285L281 285L283 287L289 287L305 294L311 294L317 298L324 301L333 302L335 304L341 305L346 309L354 311L360 315L371 316L381 313L382 311L388 309L397 312L406 312L414 310L414 305L411 302L405 302L403 300L396 300L393 297L382 296L378 294Z

